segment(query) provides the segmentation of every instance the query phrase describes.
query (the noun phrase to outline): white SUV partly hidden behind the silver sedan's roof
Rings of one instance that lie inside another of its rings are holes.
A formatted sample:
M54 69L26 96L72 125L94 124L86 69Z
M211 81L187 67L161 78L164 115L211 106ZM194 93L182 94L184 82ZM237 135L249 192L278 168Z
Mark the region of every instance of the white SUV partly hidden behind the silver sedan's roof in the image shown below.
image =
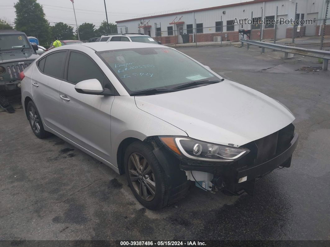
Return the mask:
M160 41L156 41L154 38L145 35L143 33L125 33L125 34L116 33L116 34L102 35L100 42L104 42L104 41L128 41L128 42L161 44Z

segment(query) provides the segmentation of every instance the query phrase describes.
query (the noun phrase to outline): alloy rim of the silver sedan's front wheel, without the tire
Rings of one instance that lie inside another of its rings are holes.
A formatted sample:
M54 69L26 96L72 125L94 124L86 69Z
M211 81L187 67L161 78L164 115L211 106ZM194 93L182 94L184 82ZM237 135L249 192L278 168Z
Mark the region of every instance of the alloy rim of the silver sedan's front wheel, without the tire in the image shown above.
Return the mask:
M145 201L152 201L156 193L156 180L147 159L139 153L132 153L128 159L128 173L139 196Z

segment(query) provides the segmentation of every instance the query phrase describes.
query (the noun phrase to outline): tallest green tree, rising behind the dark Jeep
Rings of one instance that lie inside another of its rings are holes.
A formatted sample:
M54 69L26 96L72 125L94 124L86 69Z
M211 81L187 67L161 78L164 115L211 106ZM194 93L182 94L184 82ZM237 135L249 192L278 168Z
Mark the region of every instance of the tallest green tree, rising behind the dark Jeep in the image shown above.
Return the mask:
M41 44L49 40L49 22L45 18L43 7L37 3L37 0L18 0L14 7L17 30L28 36L36 36Z

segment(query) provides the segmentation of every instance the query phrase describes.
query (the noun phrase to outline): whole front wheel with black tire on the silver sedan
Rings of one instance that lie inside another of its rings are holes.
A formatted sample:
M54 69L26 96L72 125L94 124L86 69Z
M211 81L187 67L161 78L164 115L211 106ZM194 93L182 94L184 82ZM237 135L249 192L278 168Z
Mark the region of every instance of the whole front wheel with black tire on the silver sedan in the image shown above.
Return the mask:
M166 175L149 145L142 141L130 144L125 152L124 168L128 184L143 206L158 210L167 205Z

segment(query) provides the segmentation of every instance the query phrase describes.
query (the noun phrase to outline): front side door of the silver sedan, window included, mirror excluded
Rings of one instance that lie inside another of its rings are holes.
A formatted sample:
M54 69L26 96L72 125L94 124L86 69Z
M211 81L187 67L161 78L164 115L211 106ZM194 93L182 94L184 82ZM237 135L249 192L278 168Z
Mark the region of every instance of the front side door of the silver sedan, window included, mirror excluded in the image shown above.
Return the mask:
M78 93L75 85L98 79L103 87L115 89L97 64L83 52L70 51L64 81L60 85L60 108L65 115L65 136L105 160L110 159L110 110L115 96Z

